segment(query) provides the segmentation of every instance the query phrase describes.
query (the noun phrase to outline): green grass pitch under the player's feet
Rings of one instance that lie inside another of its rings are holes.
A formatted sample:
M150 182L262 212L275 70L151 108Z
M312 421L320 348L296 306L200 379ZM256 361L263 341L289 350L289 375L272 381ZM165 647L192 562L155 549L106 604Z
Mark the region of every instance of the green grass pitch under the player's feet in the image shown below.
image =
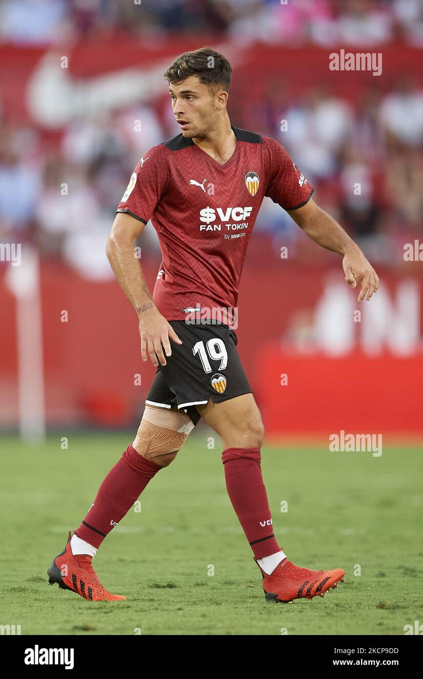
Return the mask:
M0 439L1 620L46 635L403 635L423 623L422 450L331 453L263 447L274 532L299 566L340 567L325 598L265 602L261 574L225 489L221 443L192 433L98 551L94 566L125 602L86 602L46 570L84 518L132 435ZM287 512L281 512L287 502ZM214 573L214 574L211 574ZM358 574L361 573L361 574Z

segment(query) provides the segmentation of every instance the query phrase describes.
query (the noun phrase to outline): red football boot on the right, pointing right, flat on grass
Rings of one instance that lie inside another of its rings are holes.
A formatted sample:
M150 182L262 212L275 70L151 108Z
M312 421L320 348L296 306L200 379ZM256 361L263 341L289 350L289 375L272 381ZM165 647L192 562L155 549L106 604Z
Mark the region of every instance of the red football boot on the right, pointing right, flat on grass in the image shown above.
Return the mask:
M255 562L257 563L256 559ZM265 573L261 568L260 570L263 575L263 590L266 600L283 603L291 602L294 599L312 599L314 596L325 596L325 592L331 587L337 587L339 581L344 582L345 575L342 568L333 568L333 570L299 568L286 557L276 566L271 575Z

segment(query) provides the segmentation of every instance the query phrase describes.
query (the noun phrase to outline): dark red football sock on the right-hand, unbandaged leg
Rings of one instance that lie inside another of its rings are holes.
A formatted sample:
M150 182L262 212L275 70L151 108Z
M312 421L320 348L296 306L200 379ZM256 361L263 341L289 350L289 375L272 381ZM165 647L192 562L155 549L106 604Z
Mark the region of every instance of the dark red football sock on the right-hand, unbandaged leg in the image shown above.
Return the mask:
M281 549L273 534L260 460L259 448L227 448L222 453L227 494L256 559Z

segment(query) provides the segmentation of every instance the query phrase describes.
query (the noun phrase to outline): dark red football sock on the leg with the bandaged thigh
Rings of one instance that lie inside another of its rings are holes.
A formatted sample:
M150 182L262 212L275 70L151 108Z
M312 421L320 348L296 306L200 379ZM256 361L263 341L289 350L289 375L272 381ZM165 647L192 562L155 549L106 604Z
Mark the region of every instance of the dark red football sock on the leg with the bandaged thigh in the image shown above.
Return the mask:
M75 534L93 547L100 547L159 469L162 467L137 453L132 443L128 445L98 488L94 504Z

